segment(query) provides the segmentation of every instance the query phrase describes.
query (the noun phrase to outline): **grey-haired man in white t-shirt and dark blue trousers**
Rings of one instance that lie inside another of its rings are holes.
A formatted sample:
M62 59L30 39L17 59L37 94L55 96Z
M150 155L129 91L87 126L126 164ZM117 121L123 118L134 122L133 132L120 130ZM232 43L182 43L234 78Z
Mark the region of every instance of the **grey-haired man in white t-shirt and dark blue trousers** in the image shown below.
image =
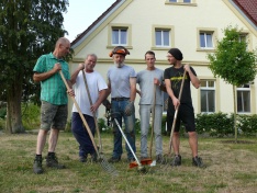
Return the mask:
M97 116L98 107L104 100L108 89L102 76L93 69L97 59L94 54L87 55L85 64L79 64L70 79L75 84L75 99L93 136L97 124L93 116ZM79 144L79 160L86 162L88 155L91 155L91 160L97 161L96 149L75 105L72 106L71 130Z

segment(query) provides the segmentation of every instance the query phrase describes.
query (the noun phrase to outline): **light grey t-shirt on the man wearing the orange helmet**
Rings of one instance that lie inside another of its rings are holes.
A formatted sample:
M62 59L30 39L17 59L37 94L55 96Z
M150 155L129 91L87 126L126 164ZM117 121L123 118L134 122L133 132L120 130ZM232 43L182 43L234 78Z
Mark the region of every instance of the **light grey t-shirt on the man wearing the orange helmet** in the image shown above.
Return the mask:
M112 66L108 70L108 79L111 83L111 98L130 98L130 78L136 78L134 68L124 65L121 68Z

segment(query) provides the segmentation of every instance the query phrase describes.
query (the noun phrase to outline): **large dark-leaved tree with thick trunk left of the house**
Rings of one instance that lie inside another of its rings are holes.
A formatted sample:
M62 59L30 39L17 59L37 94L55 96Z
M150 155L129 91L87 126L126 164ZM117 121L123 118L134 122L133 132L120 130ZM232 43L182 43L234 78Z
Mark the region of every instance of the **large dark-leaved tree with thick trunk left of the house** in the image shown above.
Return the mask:
M21 102L35 98L40 84L32 80L36 59L54 49L63 29L68 0L0 1L0 101L7 101L7 129L24 132Z

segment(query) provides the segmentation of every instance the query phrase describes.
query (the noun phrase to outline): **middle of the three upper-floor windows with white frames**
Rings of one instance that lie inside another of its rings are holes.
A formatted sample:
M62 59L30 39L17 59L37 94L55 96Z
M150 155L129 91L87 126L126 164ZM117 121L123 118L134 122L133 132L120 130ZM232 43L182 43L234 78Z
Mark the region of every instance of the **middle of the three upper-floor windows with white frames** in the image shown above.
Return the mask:
M155 46L156 47L169 47L170 44L169 30L156 30L155 31Z

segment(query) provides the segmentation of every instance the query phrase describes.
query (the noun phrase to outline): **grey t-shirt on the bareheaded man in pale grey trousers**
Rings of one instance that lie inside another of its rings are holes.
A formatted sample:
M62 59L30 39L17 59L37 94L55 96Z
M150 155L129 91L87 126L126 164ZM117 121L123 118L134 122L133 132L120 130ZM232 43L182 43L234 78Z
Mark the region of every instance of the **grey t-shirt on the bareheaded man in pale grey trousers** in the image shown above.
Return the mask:
M155 68L155 70L142 70L136 76L136 82L141 88L141 104L154 104L154 78L160 82L164 80L164 70ZM163 91L156 86L156 104L163 105Z

